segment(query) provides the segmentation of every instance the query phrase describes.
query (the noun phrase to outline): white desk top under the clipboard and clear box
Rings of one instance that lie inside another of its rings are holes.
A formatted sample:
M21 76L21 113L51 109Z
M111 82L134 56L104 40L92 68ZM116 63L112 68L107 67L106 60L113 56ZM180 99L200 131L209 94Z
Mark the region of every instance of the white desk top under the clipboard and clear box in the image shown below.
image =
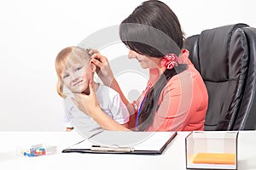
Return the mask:
M185 137L179 132L160 156L61 153L61 150L83 139L71 132L0 132L1 169L119 169L119 170L183 170ZM48 156L17 156L17 147L27 144L57 145L58 152ZM3 168L4 167L4 168ZM243 131L238 136L238 169L256 169L256 131Z

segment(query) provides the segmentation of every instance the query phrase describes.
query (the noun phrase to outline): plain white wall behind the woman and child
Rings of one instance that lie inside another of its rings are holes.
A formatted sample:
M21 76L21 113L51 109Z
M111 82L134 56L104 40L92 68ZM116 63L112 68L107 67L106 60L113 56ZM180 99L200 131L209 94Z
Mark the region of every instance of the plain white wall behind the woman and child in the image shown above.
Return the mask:
M61 98L55 92L56 54L61 48L79 44L96 31L118 25L141 2L1 1L0 130L63 130ZM238 22L256 27L253 0L163 2L177 14L187 37L207 28ZM127 54L127 49L121 43L113 43L102 48L102 54L114 61ZM138 65L125 57L122 61L123 65ZM130 99L143 90L146 74L144 71L129 74L126 69L117 75Z

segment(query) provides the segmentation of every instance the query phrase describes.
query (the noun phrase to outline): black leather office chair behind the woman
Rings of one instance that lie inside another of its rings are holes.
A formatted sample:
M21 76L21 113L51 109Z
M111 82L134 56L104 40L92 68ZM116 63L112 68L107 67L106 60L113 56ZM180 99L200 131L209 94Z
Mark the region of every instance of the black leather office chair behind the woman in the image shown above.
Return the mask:
M205 130L256 129L256 29L221 26L186 38L183 48L209 94Z

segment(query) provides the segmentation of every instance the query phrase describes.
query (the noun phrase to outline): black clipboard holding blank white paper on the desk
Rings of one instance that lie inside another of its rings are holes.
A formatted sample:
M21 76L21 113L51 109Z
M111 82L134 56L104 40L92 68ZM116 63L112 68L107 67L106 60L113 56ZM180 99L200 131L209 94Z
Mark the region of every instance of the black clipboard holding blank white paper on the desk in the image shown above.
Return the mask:
M177 132L108 131L62 150L62 153L160 155Z

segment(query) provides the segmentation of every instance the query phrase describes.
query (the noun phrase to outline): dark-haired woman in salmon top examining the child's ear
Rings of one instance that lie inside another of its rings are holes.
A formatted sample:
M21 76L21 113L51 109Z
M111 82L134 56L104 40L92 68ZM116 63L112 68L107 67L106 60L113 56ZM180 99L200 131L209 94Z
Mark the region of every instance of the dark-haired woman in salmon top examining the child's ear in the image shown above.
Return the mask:
M149 0L122 21L122 42L130 49L128 57L149 69L148 86L132 105L125 98L101 54L92 62L100 68L99 77L116 90L130 114L130 128L139 131L203 130L208 105L207 88L183 47L183 31L177 16L165 3ZM178 57L177 57L178 56ZM108 130L128 130L111 120L96 101L93 85L90 94L76 94L73 101L81 111ZM92 102L93 101L93 102Z

